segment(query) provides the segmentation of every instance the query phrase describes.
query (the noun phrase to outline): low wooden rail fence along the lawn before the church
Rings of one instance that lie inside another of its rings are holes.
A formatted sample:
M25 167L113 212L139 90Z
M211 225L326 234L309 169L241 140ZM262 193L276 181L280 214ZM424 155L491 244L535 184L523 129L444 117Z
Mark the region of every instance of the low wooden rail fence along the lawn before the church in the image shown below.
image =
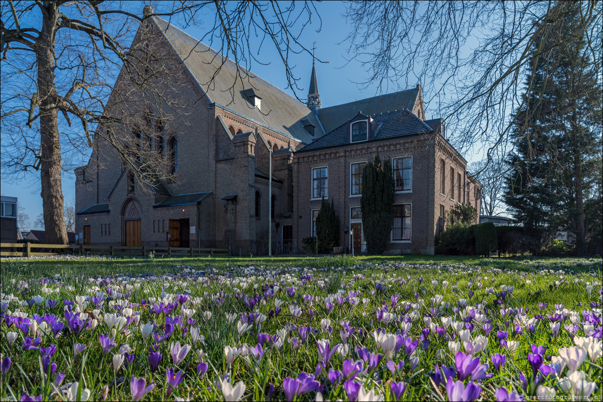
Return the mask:
M42 251L34 251L42 249ZM227 255L227 248L197 247L131 247L131 246L93 246L38 243L0 243L0 257L56 256L57 254L107 255L107 256L154 256L192 257Z

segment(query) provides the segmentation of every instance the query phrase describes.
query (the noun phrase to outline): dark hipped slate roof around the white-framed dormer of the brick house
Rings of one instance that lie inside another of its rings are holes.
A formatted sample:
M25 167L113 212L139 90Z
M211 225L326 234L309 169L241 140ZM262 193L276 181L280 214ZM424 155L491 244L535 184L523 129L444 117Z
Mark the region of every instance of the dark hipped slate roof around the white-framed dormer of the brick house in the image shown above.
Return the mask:
M348 115L348 118L353 118L356 113ZM374 139L371 139L371 141L411 136L414 134L428 133L429 131L433 131L429 125L425 124L425 122L415 116L408 109L390 111L388 113L381 113L380 115L371 115L371 118L373 118L373 120L379 124L376 135ZM325 134L323 137L317 139L309 145L304 146L296 152L312 151L314 149L330 148L332 146L349 145L347 143L347 130L348 128L346 120L346 122L339 125L339 127L335 128L335 130Z

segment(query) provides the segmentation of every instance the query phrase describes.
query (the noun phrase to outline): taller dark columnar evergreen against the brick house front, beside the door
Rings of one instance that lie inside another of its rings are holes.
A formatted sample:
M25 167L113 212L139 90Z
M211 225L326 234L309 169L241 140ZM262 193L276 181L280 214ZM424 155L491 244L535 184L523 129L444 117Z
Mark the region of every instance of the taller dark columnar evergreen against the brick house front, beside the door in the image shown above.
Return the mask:
M362 170L362 231L369 254L382 254L387 249L394 226L394 181L389 158L381 162L376 155Z

